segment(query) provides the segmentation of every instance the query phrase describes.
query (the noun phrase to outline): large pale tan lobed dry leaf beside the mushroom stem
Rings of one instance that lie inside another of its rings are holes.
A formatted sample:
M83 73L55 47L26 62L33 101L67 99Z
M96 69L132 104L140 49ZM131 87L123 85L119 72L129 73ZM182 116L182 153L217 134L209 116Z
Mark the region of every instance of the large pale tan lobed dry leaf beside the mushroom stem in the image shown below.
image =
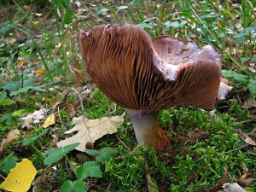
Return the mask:
M94 143L98 138L116 132L116 125L122 125L123 122L123 116L86 119L81 115L78 118L73 118L73 125L75 126L73 129L65 132L65 134L71 134L74 131L78 131L78 133L57 143L57 146L64 147L73 143L80 143L76 149L84 152L86 143Z

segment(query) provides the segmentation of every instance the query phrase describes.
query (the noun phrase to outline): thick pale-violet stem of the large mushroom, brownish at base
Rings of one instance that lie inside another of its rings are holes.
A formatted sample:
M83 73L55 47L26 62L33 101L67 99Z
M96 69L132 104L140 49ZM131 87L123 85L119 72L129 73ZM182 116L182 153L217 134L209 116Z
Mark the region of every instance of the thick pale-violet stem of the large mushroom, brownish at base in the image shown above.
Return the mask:
M126 109L131 118L137 142L156 148L157 152L163 152L171 147L166 132L158 124L159 112L149 110Z

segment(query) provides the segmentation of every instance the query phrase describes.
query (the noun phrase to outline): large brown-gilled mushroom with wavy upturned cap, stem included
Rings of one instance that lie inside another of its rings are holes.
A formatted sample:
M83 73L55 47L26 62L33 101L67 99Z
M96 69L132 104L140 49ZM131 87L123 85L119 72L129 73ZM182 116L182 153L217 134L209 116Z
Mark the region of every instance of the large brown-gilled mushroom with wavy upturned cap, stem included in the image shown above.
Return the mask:
M126 108L137 142L158 152L170 140L158 124L161 109L191 106L212 110L231 87L221 83L221 61L211 45L199 49L177 38L154 41L143 29L126 24L80 30L79 50L99 90Z

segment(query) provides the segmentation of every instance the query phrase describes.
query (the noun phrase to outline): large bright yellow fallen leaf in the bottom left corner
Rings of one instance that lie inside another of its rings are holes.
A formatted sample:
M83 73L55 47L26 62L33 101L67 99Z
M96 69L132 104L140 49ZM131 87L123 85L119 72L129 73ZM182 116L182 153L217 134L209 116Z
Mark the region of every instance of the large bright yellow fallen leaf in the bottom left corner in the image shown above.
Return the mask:
M9 175L0 185L0 188L11 192L26 192L30 188L36 174L37 170L32 165L32 162L23 159L20 163L16 164L15 168L10 170Z

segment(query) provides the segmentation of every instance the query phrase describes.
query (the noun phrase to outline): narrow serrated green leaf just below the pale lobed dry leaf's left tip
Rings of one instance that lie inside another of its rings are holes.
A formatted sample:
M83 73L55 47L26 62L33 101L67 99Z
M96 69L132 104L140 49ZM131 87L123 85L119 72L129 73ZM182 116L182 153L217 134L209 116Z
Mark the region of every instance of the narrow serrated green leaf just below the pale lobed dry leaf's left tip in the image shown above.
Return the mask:
M48 156L44 159L44 165L48 166L49 164L54 163L57 160L61 160L61 158L67 154L68 152L72 151L74 148L77 148L80 143L73 143L71 145L67 145L65 147L55 148L48 151L46 154Z

